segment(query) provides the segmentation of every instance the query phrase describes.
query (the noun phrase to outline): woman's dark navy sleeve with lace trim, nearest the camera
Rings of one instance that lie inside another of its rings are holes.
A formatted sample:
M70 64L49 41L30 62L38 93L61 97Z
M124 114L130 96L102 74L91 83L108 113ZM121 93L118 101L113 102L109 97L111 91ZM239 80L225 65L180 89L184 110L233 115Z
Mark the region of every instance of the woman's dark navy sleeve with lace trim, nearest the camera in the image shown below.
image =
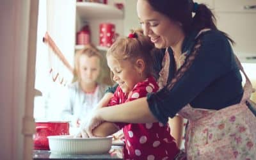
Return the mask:
M209 84L230 70L232 49L227 37L220 31L202 33L196 40L196 45L199 47L195 59L186 68L189 57L193 56L191 52L179 70L185 71L177 82L172 87L170 83L173 82L168 82L162 90L147 96L150 111L163 124L168 122L169 116L175 116Z

